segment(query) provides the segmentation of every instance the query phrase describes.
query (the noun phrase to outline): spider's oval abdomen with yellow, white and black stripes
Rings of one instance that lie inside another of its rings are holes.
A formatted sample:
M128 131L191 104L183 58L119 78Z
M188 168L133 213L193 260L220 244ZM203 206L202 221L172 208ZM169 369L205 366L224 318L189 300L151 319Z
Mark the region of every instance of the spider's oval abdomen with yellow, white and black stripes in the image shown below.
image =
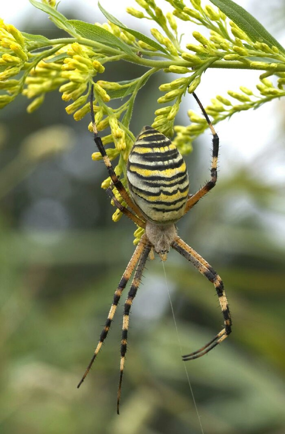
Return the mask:
M147 220L167 224L184 214L189 179L175 145L152 127L143 127L127 164L130 194Z

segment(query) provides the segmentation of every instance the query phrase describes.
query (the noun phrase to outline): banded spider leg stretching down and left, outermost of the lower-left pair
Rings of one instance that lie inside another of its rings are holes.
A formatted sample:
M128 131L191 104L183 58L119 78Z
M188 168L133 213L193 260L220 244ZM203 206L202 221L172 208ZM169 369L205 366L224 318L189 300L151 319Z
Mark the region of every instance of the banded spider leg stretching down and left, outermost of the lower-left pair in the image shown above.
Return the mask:
M104 325L104 329L102 330L102 332L100 334L100 339L99 339L97 347L96 347L96 349L94 351L94 355L91 358L91 361L90 361L89 365L87 366L86 371L84 372L83 377L81 378L81 380L78 383L78 386L77 386L78 388L81 386L81 384L83 383L86 375L90 371L90 368L91 368L91 366L92 366L92 364L93 364L93 362L94 362L94 360L95 360L98 352L100 351L101 346L102 346L104 340L107 337L107 334L108 334L109 329L110 329L111 322L113 321L113 317L114 317L116 309L117 309L117 305L118 305L118 303L120 301L120 296L122 294L122 291L126 287L126 284L128 283L128 280L130 279L130 277L131 277L131 275L133 273L133 270L134 270L134 268L136 266L136 263L138 262L139 258L141 257L144 249L145 249L145 235L143 235L143 237L141 238L139 244L137 245L136 250L134 251L133 256L131 257L130 262L128 263L128 265L126 267L126 270L123 273L123 276L122 276L122 278L120 280L120 283L119 283L119 285L118 285L118 287L117 287L117 289L116 289L116 291L114 293L112 306L110 308L110 312L109 312L108 318L107 318L106 323Z

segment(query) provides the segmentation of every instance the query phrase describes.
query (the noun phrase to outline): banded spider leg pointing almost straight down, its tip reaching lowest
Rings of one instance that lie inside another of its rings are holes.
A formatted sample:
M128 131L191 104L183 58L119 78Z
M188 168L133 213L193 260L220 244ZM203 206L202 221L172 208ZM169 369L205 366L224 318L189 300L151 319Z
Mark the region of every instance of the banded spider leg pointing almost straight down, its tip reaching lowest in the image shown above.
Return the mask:
M122 330L122 341L121 341L120 380L119 380L118 395L117 395L117 414L119 414L119 407L120 407L123 370L124 370L126 344L127 344L128 328L129 328L130 308L132 306L133 299L136 296L136 292L138 290L139 283L140 283L140 280L141 280L142 274L143 274L143 269L146 266L146 260L149 256L150 250L151 250L150 244L146 244L146 246L144 247L144 250L141 253L141 256L139 258L139 262L138 262L138 265L136 267L136 272L135 272L135 275L133 277L132 286L130 288L130 291L128 293L128 297L126 299L125 306L124 306L123 330Z

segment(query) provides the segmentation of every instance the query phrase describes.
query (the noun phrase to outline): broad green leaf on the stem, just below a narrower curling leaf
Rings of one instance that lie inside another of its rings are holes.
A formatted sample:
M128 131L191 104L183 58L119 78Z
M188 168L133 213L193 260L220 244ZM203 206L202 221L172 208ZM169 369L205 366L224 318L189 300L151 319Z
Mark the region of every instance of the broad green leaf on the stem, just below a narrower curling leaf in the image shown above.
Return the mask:
M124 53L134 56L133 51L126 43L102 27L96 26L95 24L84 23L84 21L80 20L68 20L68 23L84 38L105 44L111 48L115 46L120 48Z

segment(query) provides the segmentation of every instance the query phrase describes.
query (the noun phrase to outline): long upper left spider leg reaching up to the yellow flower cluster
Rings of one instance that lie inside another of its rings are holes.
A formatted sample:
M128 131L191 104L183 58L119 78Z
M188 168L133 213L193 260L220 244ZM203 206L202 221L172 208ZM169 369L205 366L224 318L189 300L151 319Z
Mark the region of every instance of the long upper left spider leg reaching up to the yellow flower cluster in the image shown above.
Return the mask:
M91 120L92 120L92 125L93 125L93 132L94 132L94 142L96 143L97 148L103 157L104 164L107 167L107 171L109 173L111 180L113 181L114 186L117 188L117 190L119 191L120 195L123 197L123 200L126 202L128 207L130 207L130 209L133 210L133 212L136 215L138 215L139 217L142 217L141 211L133 203L130 196L126 192L126 189L123 186L122 182L117 177L117 175L113 169L113 166L111 164L111 161L110 161L109 157L107 156L107 153L105 151L105 148L104 148L104 145L103 145L102 140L100 138L100 135L98 134L96 124L95 124L95 118L94 118L93 95L94 95L94 91L93 91L93 85L92 85L91 86L91 93L90 93L90 111L91 111Z

